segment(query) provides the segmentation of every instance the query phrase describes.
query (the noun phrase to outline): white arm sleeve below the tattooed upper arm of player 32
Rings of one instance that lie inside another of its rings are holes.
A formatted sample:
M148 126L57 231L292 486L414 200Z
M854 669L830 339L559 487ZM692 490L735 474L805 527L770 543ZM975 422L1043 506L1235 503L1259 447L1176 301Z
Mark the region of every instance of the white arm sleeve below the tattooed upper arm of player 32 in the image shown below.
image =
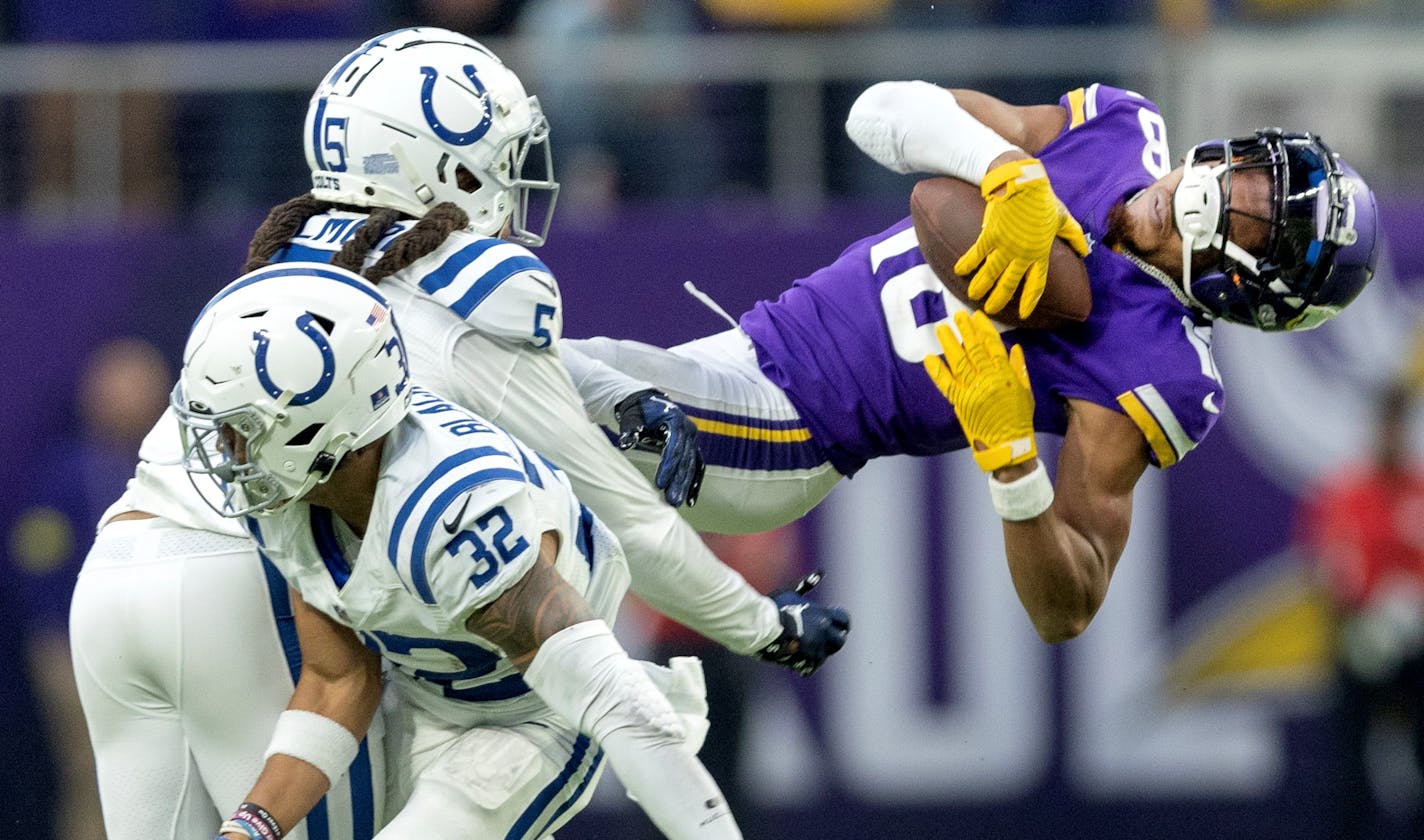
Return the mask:
M672 840L740 840L706 767L684 749L676 712L602 621L567 626L524 672L554 712L602 746L618 780Z

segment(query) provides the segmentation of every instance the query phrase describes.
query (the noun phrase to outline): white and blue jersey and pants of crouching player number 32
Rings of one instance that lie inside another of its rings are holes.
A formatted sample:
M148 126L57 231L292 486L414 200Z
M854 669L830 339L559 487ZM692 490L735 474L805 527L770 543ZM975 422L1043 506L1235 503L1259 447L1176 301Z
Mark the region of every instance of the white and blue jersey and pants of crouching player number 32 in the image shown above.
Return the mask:
M380 837L545 836L587 803L602 752L466 624L528 572L553 532L560 577L611 625L628 587L618 541L553 464L419 387L386 439L367 521L357 538L305 503L246 520L302 598L390 663L400 770Z

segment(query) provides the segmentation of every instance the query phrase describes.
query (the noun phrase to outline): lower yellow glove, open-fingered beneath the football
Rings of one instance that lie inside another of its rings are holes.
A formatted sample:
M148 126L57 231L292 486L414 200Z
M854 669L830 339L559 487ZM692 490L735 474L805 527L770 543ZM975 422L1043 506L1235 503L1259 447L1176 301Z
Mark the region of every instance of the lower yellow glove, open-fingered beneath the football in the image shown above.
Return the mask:
M963 342L948 325L934 327L944 357L926 356L924 369L954 406L974 460L993 473L1037 457L1034 392L1024 350L1017 345L1005 350L1004 339L983 312L956 312L954 327Z

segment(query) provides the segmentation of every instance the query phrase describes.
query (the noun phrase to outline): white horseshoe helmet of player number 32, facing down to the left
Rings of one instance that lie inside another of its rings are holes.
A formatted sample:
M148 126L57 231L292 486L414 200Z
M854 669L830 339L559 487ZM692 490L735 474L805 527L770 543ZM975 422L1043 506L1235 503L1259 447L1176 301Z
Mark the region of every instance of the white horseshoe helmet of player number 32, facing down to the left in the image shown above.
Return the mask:
M406 416L406 346L365 279L325 263L272 265L204 308L171 404L184 467L195 485L218 483L218 513L269 513Z

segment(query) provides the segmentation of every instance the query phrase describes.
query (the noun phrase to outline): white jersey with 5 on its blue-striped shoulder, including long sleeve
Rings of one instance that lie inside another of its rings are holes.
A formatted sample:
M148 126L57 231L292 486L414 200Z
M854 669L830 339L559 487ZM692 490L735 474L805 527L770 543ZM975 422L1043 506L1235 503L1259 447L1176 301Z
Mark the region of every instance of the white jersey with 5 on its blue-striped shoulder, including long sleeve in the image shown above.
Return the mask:
M272 259L329 262L366 218L316 215ZM366 266L413 224L392 225ZM740 653L776 639L772 601L721 564L588 420L558 356L558 283L534 253L456 231L379 288L396 312L414 379L558 464L578 498L617 534L639 597Z

